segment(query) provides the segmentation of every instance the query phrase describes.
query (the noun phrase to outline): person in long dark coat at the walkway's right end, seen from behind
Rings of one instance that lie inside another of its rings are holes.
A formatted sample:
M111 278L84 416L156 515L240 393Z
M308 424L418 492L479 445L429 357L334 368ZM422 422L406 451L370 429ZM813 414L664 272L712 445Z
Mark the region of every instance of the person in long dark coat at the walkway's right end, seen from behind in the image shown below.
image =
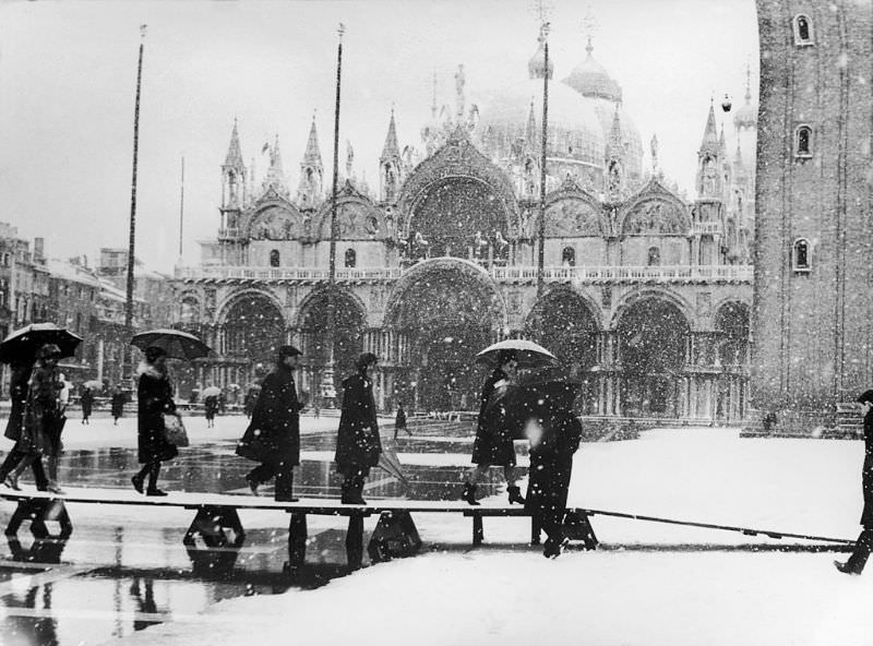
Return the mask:
M578 384L553 381L530 388L530 418L525 433L530 441L527 509L548 539L542 555L555 558L563 545L563 518L573 454L582 440L582 423L573 412Z

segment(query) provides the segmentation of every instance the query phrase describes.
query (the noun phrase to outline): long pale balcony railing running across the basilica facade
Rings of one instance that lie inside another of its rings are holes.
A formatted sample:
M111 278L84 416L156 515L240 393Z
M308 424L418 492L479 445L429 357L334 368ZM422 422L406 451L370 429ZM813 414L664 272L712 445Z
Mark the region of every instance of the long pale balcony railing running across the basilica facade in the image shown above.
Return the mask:
M412 265L414 267L415 265ZM400 278L412 267L338 268L340 283L388 282ZM486 268L498 283L535 283L535 266L492 266ZM549 283L751 283L751 265L661 265L545 267ZM264 280L320 283L330 278L326 268L314 267L177 267L181 280Z

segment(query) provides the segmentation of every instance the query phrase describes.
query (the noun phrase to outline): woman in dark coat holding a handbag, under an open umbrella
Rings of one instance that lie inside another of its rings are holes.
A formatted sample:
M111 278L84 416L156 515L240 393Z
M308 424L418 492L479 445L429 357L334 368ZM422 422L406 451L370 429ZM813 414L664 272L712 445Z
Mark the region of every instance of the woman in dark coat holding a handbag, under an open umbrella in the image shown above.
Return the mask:
M131 478L133 488L143 492L145 476L148 476L146 495L167 495L157 488L157 476L160 463L172 459L179 451L170 444L164 434L164 415L175 415L176 404L172 400L172 386L167 375L167 352L163 348L150 346L145 348L145 360L140 363L137 373L140 383L136 386L136 447L137 457L143 468Z

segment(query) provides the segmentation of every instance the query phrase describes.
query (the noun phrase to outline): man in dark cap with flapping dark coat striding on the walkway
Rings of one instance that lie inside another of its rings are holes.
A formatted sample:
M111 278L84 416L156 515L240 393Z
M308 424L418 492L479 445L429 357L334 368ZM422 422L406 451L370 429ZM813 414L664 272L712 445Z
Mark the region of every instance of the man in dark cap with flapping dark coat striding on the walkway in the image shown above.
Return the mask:
M300 409L294 370L300 358L294 346L282 346L276 366L261 384L252 419L237 444L237 455L260 462L246 476L254 495L264 482L276 478L275 500L297 502L294 467L300 464Z

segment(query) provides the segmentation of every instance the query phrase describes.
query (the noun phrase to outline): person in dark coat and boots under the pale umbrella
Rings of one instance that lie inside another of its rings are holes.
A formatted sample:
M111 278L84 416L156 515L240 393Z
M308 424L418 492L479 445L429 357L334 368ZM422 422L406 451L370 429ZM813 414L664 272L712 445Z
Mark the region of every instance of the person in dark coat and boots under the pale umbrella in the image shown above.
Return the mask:
M473 443L473 464L464 493L461 499L471 505L476 501L476 487L491 466L503 467L506 478L506 491L510 503L524 504L515 475L515 421L509 415L507 394L512 390L513 380L518 371L518 359L514 351L502 350L498 356L498 368L485 381L480 396L479 419L476 427L476 440Z

